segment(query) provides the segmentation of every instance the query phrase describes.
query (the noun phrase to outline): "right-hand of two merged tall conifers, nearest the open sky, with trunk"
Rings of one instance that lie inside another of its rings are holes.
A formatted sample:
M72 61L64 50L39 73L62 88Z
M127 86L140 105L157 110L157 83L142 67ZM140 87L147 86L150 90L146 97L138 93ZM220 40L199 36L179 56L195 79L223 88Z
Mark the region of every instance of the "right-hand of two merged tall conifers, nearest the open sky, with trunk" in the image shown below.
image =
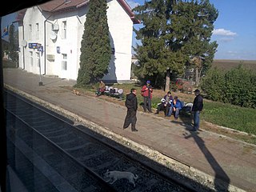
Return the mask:
M209 0L183 2L175 6L172 15L172 28L175 32L175 44L182 47L182 53L188 58L187 66L194 68L195 82L198 86L202 70L210 69L217 42L210 42L218 10Z

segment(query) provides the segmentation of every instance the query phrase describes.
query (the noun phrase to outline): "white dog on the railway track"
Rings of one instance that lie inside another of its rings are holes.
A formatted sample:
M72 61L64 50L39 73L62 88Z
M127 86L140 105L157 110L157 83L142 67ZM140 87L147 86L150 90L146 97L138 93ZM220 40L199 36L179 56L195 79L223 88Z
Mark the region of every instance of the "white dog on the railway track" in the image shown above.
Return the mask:
M106 182L110 182L110 184L113 184L118 179L126 178L135 187L134 179L136 180L138 178L138 175L137 174L134 175L131 172L125 172L125 171L118 171L118 170L109 171L109 170L106 170L106 173L104 174L104 177L106 178Z

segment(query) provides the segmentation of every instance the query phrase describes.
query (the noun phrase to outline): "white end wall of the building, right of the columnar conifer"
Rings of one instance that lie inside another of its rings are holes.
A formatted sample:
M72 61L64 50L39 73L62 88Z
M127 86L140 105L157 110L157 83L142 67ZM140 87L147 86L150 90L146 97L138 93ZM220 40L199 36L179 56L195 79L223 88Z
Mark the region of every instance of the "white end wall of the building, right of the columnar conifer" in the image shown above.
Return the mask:
M117 0L108 1L107 18L115 54L104 79L130 80L133 22Z

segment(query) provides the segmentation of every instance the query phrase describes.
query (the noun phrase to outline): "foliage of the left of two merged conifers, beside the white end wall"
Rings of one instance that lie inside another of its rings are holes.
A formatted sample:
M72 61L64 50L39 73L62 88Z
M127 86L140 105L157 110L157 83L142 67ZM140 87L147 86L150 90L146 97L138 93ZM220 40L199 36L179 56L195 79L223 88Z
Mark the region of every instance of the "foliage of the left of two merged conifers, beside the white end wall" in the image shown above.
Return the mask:
M154 83L162 86L166 72L183 70L182 59L178 54L169 50L166 38L170 31L170 24L175 0L151 0L134 9L136 17L142 21L143 27L134 30L136 38L142 45L137 45L134 50L140 62L138 74L141 78L154 79ZM174 54L176 54L174 56ZM176 59L178 58L178 59Z

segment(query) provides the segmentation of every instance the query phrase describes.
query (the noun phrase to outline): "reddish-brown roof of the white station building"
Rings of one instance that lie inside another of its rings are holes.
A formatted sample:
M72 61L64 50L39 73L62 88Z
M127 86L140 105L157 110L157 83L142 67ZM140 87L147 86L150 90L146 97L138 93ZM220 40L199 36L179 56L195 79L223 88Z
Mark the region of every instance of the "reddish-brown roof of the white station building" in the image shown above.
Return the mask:
M130 16L130 19L134 22L134 24L140 23L140 21L134 18L134 12L131 10L130 6L127 4L126 0L117 0L119 4L122 6L126 13ZM65 3L66 2L66 3ZM70 9L78 9L81 6L86 6L90 0L54 0L50 2L43 3L38 7L47 12L57 12L62 10L70 10ZM16 20L22 21L26 10L19 11Z

